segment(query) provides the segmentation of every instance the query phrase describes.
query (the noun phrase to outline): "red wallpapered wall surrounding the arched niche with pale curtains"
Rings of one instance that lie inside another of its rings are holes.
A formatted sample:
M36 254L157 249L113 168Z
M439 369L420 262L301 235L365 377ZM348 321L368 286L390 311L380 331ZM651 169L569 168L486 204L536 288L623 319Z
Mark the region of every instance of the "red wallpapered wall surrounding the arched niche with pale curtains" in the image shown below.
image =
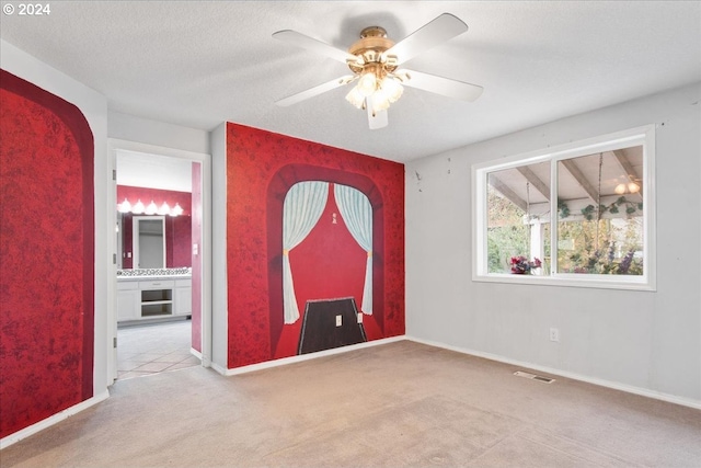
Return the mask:
M295 339L289 335L294 335L299 321L283 324L281 209L285 193L296 182L341 183L368 196L374 208L375 303L368 329L374 330L371 339L404 333L403 164L227 124L227 168L229 368L291 355L289 343ZM333 210L333 204L326 209ZM321 224L315 229L326 228L331 229ZM334 242L342 240L329 242L329 250L333 250L338 248ZM354 256L350 243L343 251ZM319 277L314 269L338 270L338 264L325 256L309 267L309 275ZM358 263L364 261L359 259ZM292 262L295 256L290 256ZM295 264L303 269L299 262L292 263L292 269ZM344 279L335 281L330 275L323 290L311 290L308 279L298 282L297 277L296 288L306 295L332 294L340 282L353 277L349 282L355 286L348 283L347 287L356 292L359 287L356 294L361 297L363 274L356 285L356 269L349 265L347 271L343 267L343 273L336 272ZM298 301L302 300L298 296Z

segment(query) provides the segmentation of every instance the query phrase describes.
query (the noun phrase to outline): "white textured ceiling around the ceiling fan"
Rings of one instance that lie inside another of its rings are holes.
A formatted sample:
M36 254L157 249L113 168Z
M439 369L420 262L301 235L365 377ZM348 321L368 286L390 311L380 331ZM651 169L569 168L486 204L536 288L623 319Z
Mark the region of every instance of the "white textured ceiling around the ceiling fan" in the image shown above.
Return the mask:
M468 33L406 67L483 85L476 102L406 89L379 130L344 88L274 104L348 72L274 32L345 49L363 27L399 41L444 12ZM234 122L395 161L701 81L699 1L51 1L48 16L0 18L2 39L115 112L207 130Z

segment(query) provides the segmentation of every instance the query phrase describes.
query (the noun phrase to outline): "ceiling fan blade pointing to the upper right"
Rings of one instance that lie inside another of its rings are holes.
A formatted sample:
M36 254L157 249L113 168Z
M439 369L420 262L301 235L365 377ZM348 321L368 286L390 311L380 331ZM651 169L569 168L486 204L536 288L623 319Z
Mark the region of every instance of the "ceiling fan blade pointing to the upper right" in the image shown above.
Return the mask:
M450 13L444 13L394 44L386 54L397 56L400 65L467 31L468 25L462 20Z

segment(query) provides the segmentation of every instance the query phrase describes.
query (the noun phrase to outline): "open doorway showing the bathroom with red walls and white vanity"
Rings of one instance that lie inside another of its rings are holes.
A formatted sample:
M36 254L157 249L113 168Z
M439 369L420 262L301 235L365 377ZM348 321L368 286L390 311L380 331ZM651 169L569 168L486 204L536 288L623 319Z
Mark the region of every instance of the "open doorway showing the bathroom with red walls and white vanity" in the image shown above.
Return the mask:
M209 366L209 157L110 142L117 205L111 381Z

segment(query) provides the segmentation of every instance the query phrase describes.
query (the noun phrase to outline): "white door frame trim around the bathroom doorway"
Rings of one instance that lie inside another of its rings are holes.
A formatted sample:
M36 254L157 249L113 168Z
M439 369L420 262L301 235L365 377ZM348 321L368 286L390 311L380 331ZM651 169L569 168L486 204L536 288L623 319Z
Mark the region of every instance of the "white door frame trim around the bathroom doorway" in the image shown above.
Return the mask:
M202 164L202 365L211 366L211 155L186 151L175 148L148 145L116 138L107 138L110 173L112 173L111 190L107 191L108 206L117 206L116 153L118 150L142 152L171 158L185 159ZM111 274L107 282L107 386L117 378L117 236L114 235L114 217L110 216L111 229L108 252L113 258Z

